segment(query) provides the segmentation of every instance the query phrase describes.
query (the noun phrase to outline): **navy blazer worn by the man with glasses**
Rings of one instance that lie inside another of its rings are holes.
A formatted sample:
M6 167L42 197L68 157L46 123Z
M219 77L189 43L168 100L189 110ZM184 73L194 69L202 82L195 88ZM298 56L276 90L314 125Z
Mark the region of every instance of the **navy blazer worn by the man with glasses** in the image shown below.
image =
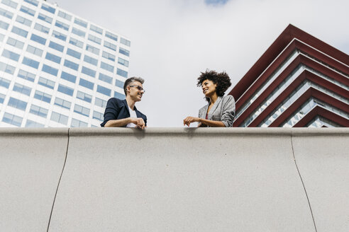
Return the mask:
M147 116L143 115L143 113L139 112L137 108L134 108L135 115L137 117L142 117L145 126L147 125ZM130 112L128 111L127 101L120 100L118 98L110 98L108 103L106 103L106 111L104 112L104 122L101 123L101 127L104 127L106 122L109 120L121 120L123 118L130 117ZM123 127L126 127L123 126Z

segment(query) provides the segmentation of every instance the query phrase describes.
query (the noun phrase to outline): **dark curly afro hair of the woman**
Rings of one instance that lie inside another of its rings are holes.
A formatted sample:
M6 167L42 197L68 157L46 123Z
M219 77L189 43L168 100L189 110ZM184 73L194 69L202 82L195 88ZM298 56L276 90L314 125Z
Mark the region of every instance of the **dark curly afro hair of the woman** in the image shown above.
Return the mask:
M231 79L225 71L222 71L221 73L217 73L213 70L201 72L201 75L197 79L197 86L201 86L202 82L206 80L217 84L216 93L218 97L222 97L226 90L231 86ZM206 100L209 101L209 98L206 98Z

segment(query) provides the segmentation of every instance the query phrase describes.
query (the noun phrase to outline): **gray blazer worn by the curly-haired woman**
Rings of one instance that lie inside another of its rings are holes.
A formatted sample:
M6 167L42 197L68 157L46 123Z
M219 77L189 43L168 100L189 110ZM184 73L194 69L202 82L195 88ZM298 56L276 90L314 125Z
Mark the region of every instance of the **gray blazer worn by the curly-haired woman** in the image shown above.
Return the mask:
M209 104L199 110L199 117L206 119L206 112ZM235 100L232 95L218 97L211 108L208 120L221 121L226 127L233 127L235 116Z

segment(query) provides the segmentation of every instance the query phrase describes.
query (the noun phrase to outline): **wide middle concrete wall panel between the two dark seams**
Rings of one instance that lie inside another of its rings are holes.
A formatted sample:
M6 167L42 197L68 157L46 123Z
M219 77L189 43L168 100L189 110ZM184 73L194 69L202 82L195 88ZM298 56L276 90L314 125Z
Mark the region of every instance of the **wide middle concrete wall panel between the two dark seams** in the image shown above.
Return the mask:
M70 129L50 231L314 231L290 129Z

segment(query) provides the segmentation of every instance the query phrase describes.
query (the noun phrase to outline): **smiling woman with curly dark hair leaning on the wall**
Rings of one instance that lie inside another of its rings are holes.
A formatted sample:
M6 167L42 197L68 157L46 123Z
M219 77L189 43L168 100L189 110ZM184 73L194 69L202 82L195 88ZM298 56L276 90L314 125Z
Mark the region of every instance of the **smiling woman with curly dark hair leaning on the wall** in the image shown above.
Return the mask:
M228 74L206 70L197 80L209 103L199 110L199 117L186 117L183 124L189 127L190 123L199 122L198 127L233 127L235 100L232 95L223 96L231 86Z

